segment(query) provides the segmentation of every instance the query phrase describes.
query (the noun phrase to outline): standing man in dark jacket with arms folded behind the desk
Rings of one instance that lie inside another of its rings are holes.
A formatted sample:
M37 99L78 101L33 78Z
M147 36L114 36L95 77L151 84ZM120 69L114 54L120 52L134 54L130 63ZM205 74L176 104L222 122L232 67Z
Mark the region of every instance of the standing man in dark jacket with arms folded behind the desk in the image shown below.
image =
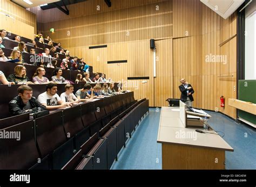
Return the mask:
M180 79L181 85L179 86L179 90L181 92L180 99L186 100L185 104L187 106L192 106L192 102L194 100L192 94L194 90L191 84L188 84L184 78Z

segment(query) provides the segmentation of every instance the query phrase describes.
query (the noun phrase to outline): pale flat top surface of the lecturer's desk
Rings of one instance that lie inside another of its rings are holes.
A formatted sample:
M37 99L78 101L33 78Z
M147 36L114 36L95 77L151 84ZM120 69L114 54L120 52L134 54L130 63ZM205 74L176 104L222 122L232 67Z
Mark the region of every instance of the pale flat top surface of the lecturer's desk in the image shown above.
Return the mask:
M212 148L233 152L234 149L214 131L196 132L198 127L185 128L179 118L179 108L162 107L158 129L158 143ZM201 129L203 130L203 128ZM209 134L214 133L214 134Z

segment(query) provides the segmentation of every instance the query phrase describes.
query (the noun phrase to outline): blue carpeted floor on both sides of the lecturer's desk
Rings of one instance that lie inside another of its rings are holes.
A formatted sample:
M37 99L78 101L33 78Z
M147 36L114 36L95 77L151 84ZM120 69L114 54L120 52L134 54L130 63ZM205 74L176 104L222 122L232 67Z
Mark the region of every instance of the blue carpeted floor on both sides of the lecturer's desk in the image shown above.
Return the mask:
M226 152L226 169L256 169L256 130L223 114L207 113L212 116L209 124L215 131L224 132L224 140L234 149ZM161 144L157 143L159 119L160 109L151 108L112 169L161 169Z

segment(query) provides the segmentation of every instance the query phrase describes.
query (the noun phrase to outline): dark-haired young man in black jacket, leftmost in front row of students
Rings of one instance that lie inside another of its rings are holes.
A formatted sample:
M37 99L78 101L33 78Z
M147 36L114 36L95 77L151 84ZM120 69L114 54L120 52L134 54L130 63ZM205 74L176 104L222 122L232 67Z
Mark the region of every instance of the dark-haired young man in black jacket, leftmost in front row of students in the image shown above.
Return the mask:
M18 88L18 96L9 102L10 113L19 115L47 110L35 97L32 97L32 94L33 91L31 87L28 85L21 85Z

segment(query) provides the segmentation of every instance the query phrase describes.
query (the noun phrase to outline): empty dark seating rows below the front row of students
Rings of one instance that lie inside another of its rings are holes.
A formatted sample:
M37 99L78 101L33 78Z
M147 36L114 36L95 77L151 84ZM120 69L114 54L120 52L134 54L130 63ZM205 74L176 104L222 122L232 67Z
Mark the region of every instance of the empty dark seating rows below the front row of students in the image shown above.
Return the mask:
M4 119L3 123L0 121L4 127L0 127L2 134L21 134L19 141L8 138L0 141L0 169L61 169L66 163L64 168L69 169L78 156L81 161L84 156L89 158L91 163L82 169L109 169L125 145L126 134L130 136L148 109L148 100L137 102L133 92L129 92L55 111L35 120L28 120L26 114L19 115L13 117L19 124L12 122L11 126Z

